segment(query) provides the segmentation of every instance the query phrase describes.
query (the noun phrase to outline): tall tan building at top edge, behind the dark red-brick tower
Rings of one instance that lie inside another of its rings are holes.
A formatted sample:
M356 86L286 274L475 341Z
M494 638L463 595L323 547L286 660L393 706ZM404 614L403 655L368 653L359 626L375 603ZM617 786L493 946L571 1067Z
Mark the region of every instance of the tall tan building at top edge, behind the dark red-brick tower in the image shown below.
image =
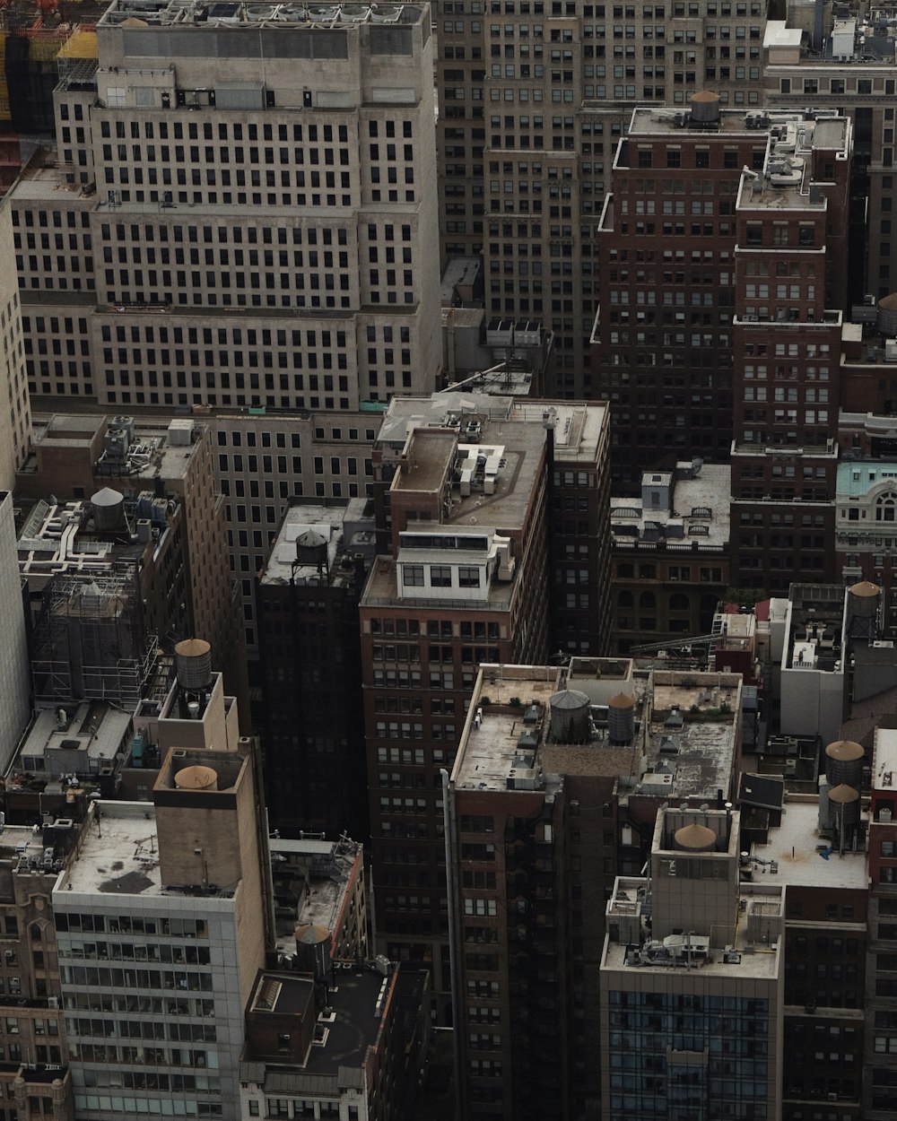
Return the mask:
M483 254L490 315L555 334L556 397L603 398L589 369L595 238L637 104L761 103L767 4L700 0L438 6L443 252Z

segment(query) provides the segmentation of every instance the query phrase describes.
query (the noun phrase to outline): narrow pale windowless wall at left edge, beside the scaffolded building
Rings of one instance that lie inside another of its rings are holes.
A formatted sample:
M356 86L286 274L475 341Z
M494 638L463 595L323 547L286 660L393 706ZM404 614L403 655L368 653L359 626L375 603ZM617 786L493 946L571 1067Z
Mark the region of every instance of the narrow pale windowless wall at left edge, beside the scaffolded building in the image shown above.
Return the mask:
M31 712L25 606L9 491L0 491L0 762L6 770Z

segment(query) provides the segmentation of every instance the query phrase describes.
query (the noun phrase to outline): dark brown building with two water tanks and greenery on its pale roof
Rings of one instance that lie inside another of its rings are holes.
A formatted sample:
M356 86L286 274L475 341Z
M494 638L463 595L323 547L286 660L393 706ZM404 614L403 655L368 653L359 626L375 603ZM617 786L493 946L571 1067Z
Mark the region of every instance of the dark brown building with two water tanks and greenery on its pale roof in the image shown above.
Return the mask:
M644 868L658 808L733 793L740 708L733 674L481 667L447 791L470 1117L603 1115L607 899Z

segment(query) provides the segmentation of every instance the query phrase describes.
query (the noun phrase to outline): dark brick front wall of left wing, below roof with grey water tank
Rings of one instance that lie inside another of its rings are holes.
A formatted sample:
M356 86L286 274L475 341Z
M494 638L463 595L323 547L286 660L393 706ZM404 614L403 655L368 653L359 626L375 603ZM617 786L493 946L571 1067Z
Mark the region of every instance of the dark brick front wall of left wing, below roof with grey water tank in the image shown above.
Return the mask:
M468 1115L566 1118L567 807L542 793L452 797Z

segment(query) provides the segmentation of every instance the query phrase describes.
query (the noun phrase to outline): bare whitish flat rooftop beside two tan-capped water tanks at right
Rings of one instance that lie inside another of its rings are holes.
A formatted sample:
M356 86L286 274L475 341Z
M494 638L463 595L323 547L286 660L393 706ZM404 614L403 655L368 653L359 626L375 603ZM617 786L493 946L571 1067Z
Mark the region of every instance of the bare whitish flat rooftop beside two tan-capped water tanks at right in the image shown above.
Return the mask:
M831 849L831 841L819 833L819 799L813 795L790 795L782 813L782 825L769 830L769 843L751 847L752 856L776 861L778 870L770 872L768 865L755 865L753 880L832 889L868 887L864 850L843 855L831 852L826 860L820 855L825 849Z

